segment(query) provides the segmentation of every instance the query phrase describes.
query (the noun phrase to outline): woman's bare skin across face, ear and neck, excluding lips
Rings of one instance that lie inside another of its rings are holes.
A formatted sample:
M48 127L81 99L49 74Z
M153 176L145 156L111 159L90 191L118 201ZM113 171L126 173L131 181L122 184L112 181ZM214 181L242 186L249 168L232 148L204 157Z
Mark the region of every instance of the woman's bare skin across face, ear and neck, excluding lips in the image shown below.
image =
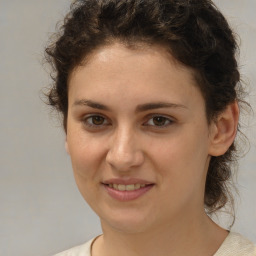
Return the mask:
M71 73L68 98L66 149L103 229L92 255L213 255L228 233L205 214L205 180L210 157L234 140L237 104L208 124L190 69L161 47L118 43L97 49ZM137 111L159 102L172 105ZM102 185L111 178L154 186L120 202Z

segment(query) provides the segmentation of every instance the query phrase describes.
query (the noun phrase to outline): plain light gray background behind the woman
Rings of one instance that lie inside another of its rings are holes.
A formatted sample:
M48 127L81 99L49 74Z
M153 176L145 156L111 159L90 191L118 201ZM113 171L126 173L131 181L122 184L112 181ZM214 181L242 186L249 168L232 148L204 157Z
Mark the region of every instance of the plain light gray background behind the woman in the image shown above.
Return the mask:
M240 66L256 106L256 1L215 1L241 38ZM47 38L70 1L0 0L0 255L47 256L100 233L64 150L64 134L40 100L50 83L42 66ZM256 242L256 125L244 132L233 230ZM246 125L248 125L246 123ZM225 225L225 216L220 218Z

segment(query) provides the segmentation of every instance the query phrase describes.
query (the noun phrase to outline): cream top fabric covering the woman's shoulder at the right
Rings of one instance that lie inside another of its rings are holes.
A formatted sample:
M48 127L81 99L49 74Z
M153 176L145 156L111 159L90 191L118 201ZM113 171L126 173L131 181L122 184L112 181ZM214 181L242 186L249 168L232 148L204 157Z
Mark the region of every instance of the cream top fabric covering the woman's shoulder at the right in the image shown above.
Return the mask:
M214 256L256 256L256 246L238 233L230 232Z

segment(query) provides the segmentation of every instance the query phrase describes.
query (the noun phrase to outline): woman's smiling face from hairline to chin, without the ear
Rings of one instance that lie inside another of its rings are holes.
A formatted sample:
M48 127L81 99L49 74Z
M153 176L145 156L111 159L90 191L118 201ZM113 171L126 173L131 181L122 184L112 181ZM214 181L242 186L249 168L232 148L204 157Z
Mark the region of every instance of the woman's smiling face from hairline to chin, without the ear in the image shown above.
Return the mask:
M193 73L160 47L113 44L69 79L67 150L105 228L140 232L202 214L209 126Z

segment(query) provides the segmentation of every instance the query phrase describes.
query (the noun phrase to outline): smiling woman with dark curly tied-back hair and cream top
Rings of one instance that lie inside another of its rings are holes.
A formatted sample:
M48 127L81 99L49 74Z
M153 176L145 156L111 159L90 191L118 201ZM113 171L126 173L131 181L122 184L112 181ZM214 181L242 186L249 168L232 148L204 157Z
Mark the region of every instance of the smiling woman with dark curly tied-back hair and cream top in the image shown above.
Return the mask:
M209 0L76 1L46 49L78 188L103 235L62 255L256 255L232 202L242 87Z

